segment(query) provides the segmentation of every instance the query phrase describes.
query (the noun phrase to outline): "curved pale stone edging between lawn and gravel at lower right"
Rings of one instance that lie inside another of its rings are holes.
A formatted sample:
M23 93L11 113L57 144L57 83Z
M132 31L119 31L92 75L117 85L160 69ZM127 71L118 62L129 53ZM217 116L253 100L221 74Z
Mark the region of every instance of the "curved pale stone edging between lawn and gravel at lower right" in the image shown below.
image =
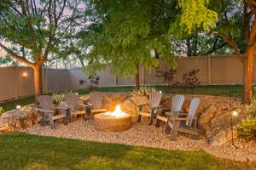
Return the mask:
M202 146L201 150L204 150L205 152L207 152L208 154L212 155L212 156L216 156L216 157L220 157L220 158L224 158L224 159L229 159L232 161L256 161L256 155L248 155L248 156L228 156L228 155L224 155L224 154L220 154L217 151L214 150L209 150L207 149L207 147Z

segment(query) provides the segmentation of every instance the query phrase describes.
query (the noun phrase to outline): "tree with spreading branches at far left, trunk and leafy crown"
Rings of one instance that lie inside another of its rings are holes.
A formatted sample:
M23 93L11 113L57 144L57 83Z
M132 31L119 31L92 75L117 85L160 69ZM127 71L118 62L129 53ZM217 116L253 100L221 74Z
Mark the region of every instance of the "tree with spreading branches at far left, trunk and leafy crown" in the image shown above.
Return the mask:
M0 2L0 48L32 67L36 95L42 93L42 65L67 55L65 41L81 24L82 7L80 0Z

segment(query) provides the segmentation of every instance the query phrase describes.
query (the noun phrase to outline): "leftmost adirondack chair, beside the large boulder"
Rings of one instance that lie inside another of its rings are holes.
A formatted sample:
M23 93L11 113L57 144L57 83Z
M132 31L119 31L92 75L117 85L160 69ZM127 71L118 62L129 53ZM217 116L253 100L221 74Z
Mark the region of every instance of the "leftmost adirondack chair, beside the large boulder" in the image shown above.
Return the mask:
M55 129L55 120L63 119L64 124L67 124L67 107L55 107L53 105L52 98L49 95L42 95L38 97L38 102L40 108L38 111L41 111L43 118L41 120L41 125L44 125L46 122L49 122L51 129ZM60 115L55 116L55 110L61 111Z

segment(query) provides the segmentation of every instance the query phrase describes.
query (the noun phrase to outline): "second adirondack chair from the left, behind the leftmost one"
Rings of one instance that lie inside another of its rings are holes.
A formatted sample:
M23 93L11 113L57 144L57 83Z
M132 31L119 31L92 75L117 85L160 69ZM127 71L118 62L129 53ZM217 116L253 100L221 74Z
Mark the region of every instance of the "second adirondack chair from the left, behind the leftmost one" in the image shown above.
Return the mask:
M66 94L67 101L67 118L69 122L72 122L72 116L82 115L84 121L86 120L86 112L89 105L79 104L79 95L76 94ZM84 111L79 111L79 106L82 106Z

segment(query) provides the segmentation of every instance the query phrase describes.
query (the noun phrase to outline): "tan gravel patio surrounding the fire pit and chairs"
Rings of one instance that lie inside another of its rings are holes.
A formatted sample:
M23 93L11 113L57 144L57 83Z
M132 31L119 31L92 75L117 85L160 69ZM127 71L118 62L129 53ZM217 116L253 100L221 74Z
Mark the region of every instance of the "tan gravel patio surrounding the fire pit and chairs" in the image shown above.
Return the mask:
M132 127L124 132L99 132L96 131L93 121L84 122L75 120L67 126L55 123L56 129L49 126L41 127L39 124L23 130L23 132L42 136L55 136L68 139L90 140L105 143L130 144L147 146L165 150L201 150L204 139L191 140L189 136L179 136L177 141L170 141L163 127L148 126L148 122L133 123Z

